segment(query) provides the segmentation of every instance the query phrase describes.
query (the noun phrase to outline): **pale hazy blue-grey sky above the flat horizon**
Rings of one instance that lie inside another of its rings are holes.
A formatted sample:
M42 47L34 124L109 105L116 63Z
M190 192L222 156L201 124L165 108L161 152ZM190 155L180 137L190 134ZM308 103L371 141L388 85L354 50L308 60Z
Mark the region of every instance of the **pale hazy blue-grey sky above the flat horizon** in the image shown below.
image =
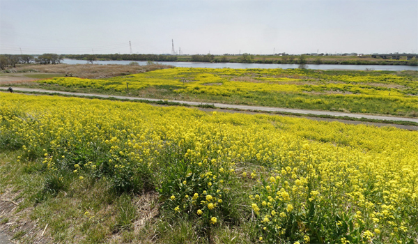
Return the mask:
M0 0L0 53L418 52L418 1Z

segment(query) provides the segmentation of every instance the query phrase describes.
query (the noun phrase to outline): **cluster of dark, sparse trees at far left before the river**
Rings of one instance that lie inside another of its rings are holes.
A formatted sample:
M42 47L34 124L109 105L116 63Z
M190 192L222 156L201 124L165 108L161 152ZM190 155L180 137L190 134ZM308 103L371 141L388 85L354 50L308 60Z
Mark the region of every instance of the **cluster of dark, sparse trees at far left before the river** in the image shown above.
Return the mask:
M28 54L13 55L13 54L1 54L0 55L0 68L4 70L8 67L15 68L17 64L58 64L63 61L64 56L59 54L42 54L39 56L33 56Z

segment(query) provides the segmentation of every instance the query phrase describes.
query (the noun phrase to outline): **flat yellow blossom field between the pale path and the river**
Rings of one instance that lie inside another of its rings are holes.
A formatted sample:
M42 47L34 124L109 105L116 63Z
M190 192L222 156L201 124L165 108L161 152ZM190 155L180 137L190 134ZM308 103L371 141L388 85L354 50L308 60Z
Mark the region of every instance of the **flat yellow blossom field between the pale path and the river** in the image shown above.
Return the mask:
M48 89L415 117L417 77L413 71L170 68L39 82Z

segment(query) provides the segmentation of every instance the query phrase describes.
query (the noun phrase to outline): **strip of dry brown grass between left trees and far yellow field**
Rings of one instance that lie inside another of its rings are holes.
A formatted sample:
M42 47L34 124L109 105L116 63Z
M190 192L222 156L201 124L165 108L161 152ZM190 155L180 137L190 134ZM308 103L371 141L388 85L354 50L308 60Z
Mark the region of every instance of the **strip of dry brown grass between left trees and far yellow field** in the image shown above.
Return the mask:
M10 69L13 73L37 72L37 73L61 73L68 76L100 79L120 75L130 75L144 73L147 71L172 68L160 63L154 63L146 66L124 66L118 64L50 64L50 65L21 65Z

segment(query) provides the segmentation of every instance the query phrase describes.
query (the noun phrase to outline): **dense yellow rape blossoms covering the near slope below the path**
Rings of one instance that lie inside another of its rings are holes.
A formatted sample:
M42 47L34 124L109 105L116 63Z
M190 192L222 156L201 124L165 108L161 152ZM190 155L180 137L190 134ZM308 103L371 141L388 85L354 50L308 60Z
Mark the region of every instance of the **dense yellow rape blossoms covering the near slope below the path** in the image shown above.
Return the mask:
M418 132L9 93L0 122L0 145L21 148L22 163L108 174L115 188L152 181L170 211L208 224L222 222L239 183L264 241L405 243L418 233Z

